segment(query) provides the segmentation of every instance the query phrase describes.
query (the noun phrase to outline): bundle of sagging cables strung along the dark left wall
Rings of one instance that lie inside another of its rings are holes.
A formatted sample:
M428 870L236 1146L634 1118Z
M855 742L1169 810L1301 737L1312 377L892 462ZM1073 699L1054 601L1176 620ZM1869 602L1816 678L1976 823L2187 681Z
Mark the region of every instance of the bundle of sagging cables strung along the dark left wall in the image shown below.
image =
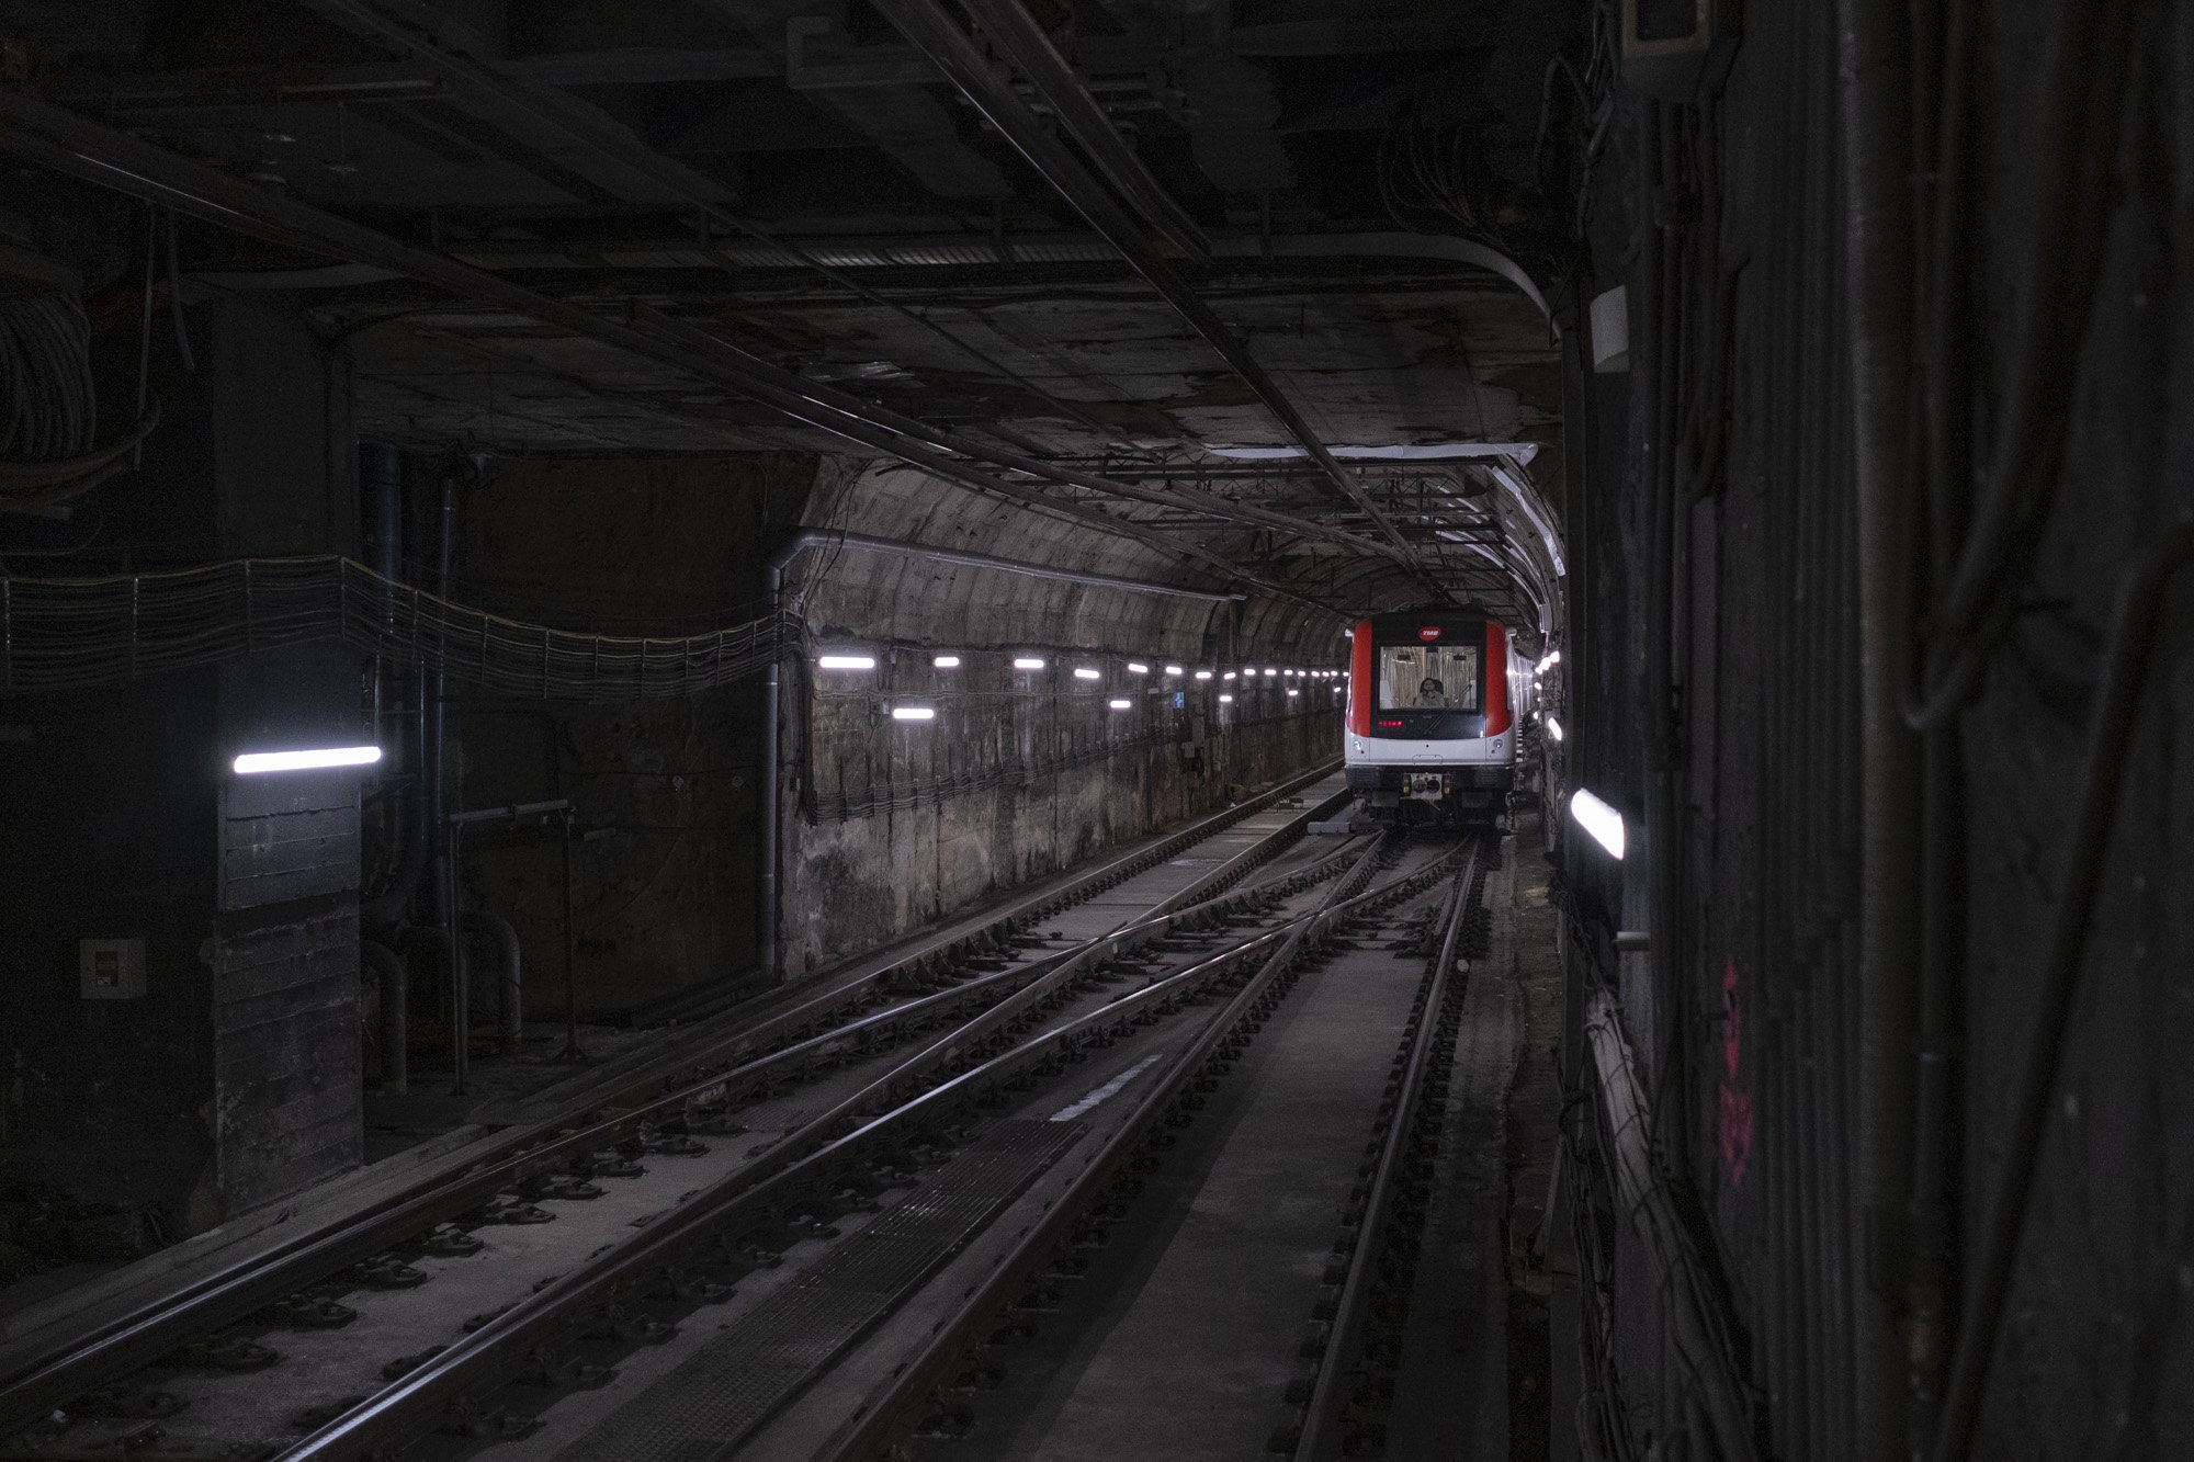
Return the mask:
M110 577L0 577L0 696L88 689L342 641L507 696L656 700L759 674L783 617L704 634L555 630L452 604L333 553Z

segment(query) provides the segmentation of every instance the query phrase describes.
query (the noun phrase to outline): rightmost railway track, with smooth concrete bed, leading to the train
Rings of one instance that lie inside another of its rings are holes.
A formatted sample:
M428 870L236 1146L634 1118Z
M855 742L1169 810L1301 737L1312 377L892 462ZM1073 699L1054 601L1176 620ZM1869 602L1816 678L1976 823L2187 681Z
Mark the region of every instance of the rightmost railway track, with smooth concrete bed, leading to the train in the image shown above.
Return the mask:
M1235 1458L1259 1449L1323 1462L1376 1453L1382 1368L1406 1315L1413 1225L1422 1218L1415 1185L1426 1144L1437 1139L1433 1113L1459 1014L1457 961L1479 918L1485 861L1488 850L1472 843L1369 891L1336 887L1325 907L1290 926L1286 944L1262 955L1163 1076L1090 1135L1077 1172L1053 1185L1042 1214L1009 1245L976 1256L970 1269L985 1278L911 1354L878 1357L867 1392L842 1387L737 1455L875 1462L908 1455L908 1444L917 1444L913 1455L961 1462ZM1376 970L1380 961L1391 970L1395 946L1371 944L1411 913L1417 918L1404 922L1400 944L1424 972L1380 979ZM1310 1054L1308 1067L1290 1071L1288 1051L1273 1049L1255 1078L1229 1082L1237 1065L1255 1062L1259 1032L1305 972L1310 1003L1292 1030L1268 1041L1294 1041ZM1378 1005L1393 1014L1393 1027L1378 1025ZM1305 1025L1349 1014L1362 1027L1354 1036L1301 1038ZM1352 1038L1371 1051L1380 1034L1395 1036L1391 1067L1365 1073L1358 1106L1334 1102L1334 1082L1316 1065ZM1198 1113L1229 1098L1233 1111L1205 1124L1231 1128L1242 1152L1220 1133L1209 1150L1169 1152L1196 1148ZM1321 1137L1305 1113L1341 1122L1343 1135ZM1349 1113L1371 1126L1369 1144L1347 1128ZM1231 1157L1246 1163L1231 1170ZM1163 1188L1169 1166L1191 1172L1172 1199L1154 1199L1145 1188ZM1332 1210L1319 1207L1321 1177L1332 1183ZM1259 1229L1288 1227L1290 1203L1297 1229L1308 1221L1334 1236L1323 1273L1299 1273L1301 1234L1262 1245ZM1202 1247L1200 1223L1211 1229ZM1047 1328L1058 1330L1049 1341L1036 1335ZM1165 1403L1152 1405L1152 1396ZM834 1409L856 1416L832 1425Z

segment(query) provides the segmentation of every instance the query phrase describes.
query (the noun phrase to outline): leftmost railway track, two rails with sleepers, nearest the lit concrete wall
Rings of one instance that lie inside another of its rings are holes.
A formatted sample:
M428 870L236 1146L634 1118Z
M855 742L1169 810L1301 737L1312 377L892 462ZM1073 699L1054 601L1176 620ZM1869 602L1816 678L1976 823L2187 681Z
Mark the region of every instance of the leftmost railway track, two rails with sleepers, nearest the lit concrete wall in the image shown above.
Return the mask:
M1180 964L1222 926L1336 876L1347 854L1288 856L1336 790L1314 773L759 1019L746 1012L739 1030L711 1023L676 1056L557 1093L559 1106L538 1102L452 1170L15 1365L0 1376L0 1438L11 1438L0 1458L369 1455L439 1429L496 1436L507 1422L489 1418L507 1412L483 1412L483 1387L529 1374L590 1383L597 1363L562 1350L597 1332L610 1350L649 1339L665 1324L643 1313L658 1291L671 1308L709 1302L731 1271L770 1260L772 1223L818 1223L781 1212L788 1201L825 1212L853 1192L814 1190L818 1155L950 1087L1093 986ZM660 1258L674 1234L757 1212L770 1218L744 1229L746 1247L715 1278ZM606 1218L570 1223L577 1214ZM581 1232L592 1242L577 1242ZM467 1258L483 1247L494 1262ZM540 1269L570 1271L564 1289L507 1293L513 1273ZM483 1308L454 1313L474 1300ZM355 1365L329 1357L355 1361L375 1330L380 1350L439 1339L388 1354L384 1390L349 1390ZM298 1429L312 1436L296 1442Z

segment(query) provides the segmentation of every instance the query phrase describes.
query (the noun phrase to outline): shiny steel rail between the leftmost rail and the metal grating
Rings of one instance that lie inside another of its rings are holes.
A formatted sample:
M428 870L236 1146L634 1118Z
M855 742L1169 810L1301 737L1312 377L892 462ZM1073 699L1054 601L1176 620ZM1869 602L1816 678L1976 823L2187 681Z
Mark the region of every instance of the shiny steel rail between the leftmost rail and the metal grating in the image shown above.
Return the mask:
M1349 885L1360 887L1360 880L1369 878L1378 852L1380 845L1367 850L1358 867L1336 885L1336 891ZM1384 889L1358 893L1347 907L1354 909L1380 896L1398 898L1402 896L1400 889L1422 887L1417 880L1424 876L1426 869L1417 869ZM1334 907L1330 900L1323 904L1323 911L1332 911ZM878 1152L902 1150L926 1131L941 1131L983 1095L1022 1078L1029 1067L1058 1060L1088 1041L1128 1034L1143 1008L1165 1001L1178 1008L1189 994L1224 979L1244 959L1275 944L1286 951L1299 948L1305 929L1316 926L1323 911L1301 915L1281 929L1246 940L1222 955L1198 961L1029 1041L1011 1043L1011 1036L1007 1036L1009 1045L1000 1054L832 1139L827 1146L803 1155L759 1183L746 1181L744 1172L726 1174L634 1234L623 1247L586 1260L575 1271L520 1300L463 1341L408 1372L384 1392L283 1451L281 1462L305 1462L307 1458L314 1462L364 1460L377 1455L382 1449L399 1447L421 1436L439 1425L448 1407L485 1394L516 1372L524 1357L553 1348L559 1337L568 1335L573 1326L584 1324L584 1317L597 1313L601 1304L621 1293L632 1293L654 1275L674 1269L691 1251L720 1245L724 1238L737 1240L742 1234L770 1225L772 1214L792 1216L810 1212L818 1199L825 1199L842 1181L849 1166L858 1168Z

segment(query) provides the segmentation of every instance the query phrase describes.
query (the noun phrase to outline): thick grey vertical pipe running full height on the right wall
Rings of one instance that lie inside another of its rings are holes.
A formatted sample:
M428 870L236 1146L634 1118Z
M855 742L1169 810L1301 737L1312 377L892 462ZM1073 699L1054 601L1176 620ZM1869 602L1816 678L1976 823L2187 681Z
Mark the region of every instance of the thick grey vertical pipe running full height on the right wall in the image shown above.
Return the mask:
M1887 1462L1907 1453L1904 1348L1893 1295L1911 1212L1920 944L1920 757L1900 709L1909 643L1909 494L1900 479L1913 314L1911 35L1898 0L1839 0L1836 22L1863 819L1850 1416L1854 1460Z

